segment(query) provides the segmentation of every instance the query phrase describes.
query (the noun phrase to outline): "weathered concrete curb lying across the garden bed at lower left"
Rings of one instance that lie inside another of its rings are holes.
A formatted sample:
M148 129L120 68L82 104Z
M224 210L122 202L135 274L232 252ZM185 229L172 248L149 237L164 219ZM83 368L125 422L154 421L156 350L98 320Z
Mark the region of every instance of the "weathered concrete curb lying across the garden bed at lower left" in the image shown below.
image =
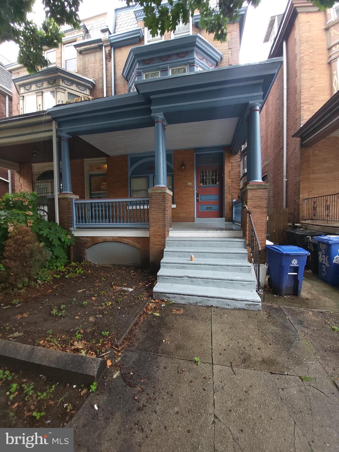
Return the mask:
M59 352L0 339L0 363L17 370L89 384L99 381L107 369L105 359Z

